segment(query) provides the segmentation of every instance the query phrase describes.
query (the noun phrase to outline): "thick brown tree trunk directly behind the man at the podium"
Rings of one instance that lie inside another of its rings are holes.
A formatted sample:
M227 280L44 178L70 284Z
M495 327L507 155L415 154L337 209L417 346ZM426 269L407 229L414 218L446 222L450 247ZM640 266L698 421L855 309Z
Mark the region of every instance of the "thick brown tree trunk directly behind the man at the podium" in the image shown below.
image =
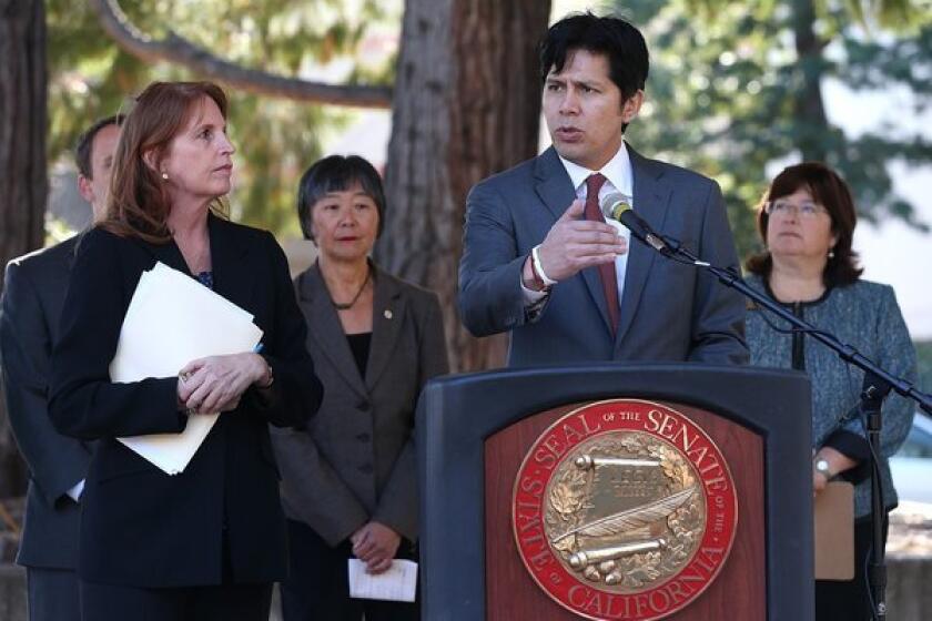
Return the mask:
M466 194L537 153L537 41L550 2L407 0L377 256L435 291L454 370L500 366L504 335L476 339L456 310Z

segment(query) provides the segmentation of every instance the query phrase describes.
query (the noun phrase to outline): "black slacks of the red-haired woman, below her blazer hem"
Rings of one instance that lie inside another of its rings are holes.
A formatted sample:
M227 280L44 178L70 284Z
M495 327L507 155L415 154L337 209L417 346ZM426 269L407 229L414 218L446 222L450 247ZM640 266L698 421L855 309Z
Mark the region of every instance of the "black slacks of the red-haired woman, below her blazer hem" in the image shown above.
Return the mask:
M269 621L272 584L144 589L81 581L82 621Z

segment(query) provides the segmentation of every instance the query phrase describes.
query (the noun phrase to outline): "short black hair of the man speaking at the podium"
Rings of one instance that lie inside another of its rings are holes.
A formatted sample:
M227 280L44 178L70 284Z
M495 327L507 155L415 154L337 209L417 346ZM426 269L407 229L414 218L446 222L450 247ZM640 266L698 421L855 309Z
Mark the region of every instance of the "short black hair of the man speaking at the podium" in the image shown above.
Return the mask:
M608 58L609 77L627 101L644 89L650 59L640 31L617 17L597 17L591 12L571 13L547 31L540 41L540 81L550 69L563 71L567 57L586 50Z

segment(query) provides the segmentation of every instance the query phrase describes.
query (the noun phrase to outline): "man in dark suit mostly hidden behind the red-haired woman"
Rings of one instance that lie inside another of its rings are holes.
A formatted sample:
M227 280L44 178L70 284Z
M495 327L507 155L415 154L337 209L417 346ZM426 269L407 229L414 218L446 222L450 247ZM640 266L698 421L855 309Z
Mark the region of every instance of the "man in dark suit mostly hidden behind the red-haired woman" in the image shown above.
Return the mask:
M79 140L78 189L103 215L120 119L94 123ZM0 362L7 411L30 470L17 562L27 568L31 621L78 621L78 519L91 447L60 435L47 411L49 359L58 338L79 236L7 265L0 307Z

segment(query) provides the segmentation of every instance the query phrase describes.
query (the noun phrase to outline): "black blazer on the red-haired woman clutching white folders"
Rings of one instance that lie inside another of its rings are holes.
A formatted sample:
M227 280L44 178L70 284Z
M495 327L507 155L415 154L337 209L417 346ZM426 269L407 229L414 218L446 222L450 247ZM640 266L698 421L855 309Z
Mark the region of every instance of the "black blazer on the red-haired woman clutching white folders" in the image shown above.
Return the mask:
M255 315L273 369L266 400L250 388L220 416L181 475L169 476L115 437L184 429L175 377L110 381L120 327L143 271L161 261L188 272L174 243L97 228L81 242L52 358L50 415L67 435L100 444L82 498L79 574L135 587L216 584L223 540L232 580L286 573L285 525L266 423L303 425L322 387L285 255L271 234L210 216L214 291Z

